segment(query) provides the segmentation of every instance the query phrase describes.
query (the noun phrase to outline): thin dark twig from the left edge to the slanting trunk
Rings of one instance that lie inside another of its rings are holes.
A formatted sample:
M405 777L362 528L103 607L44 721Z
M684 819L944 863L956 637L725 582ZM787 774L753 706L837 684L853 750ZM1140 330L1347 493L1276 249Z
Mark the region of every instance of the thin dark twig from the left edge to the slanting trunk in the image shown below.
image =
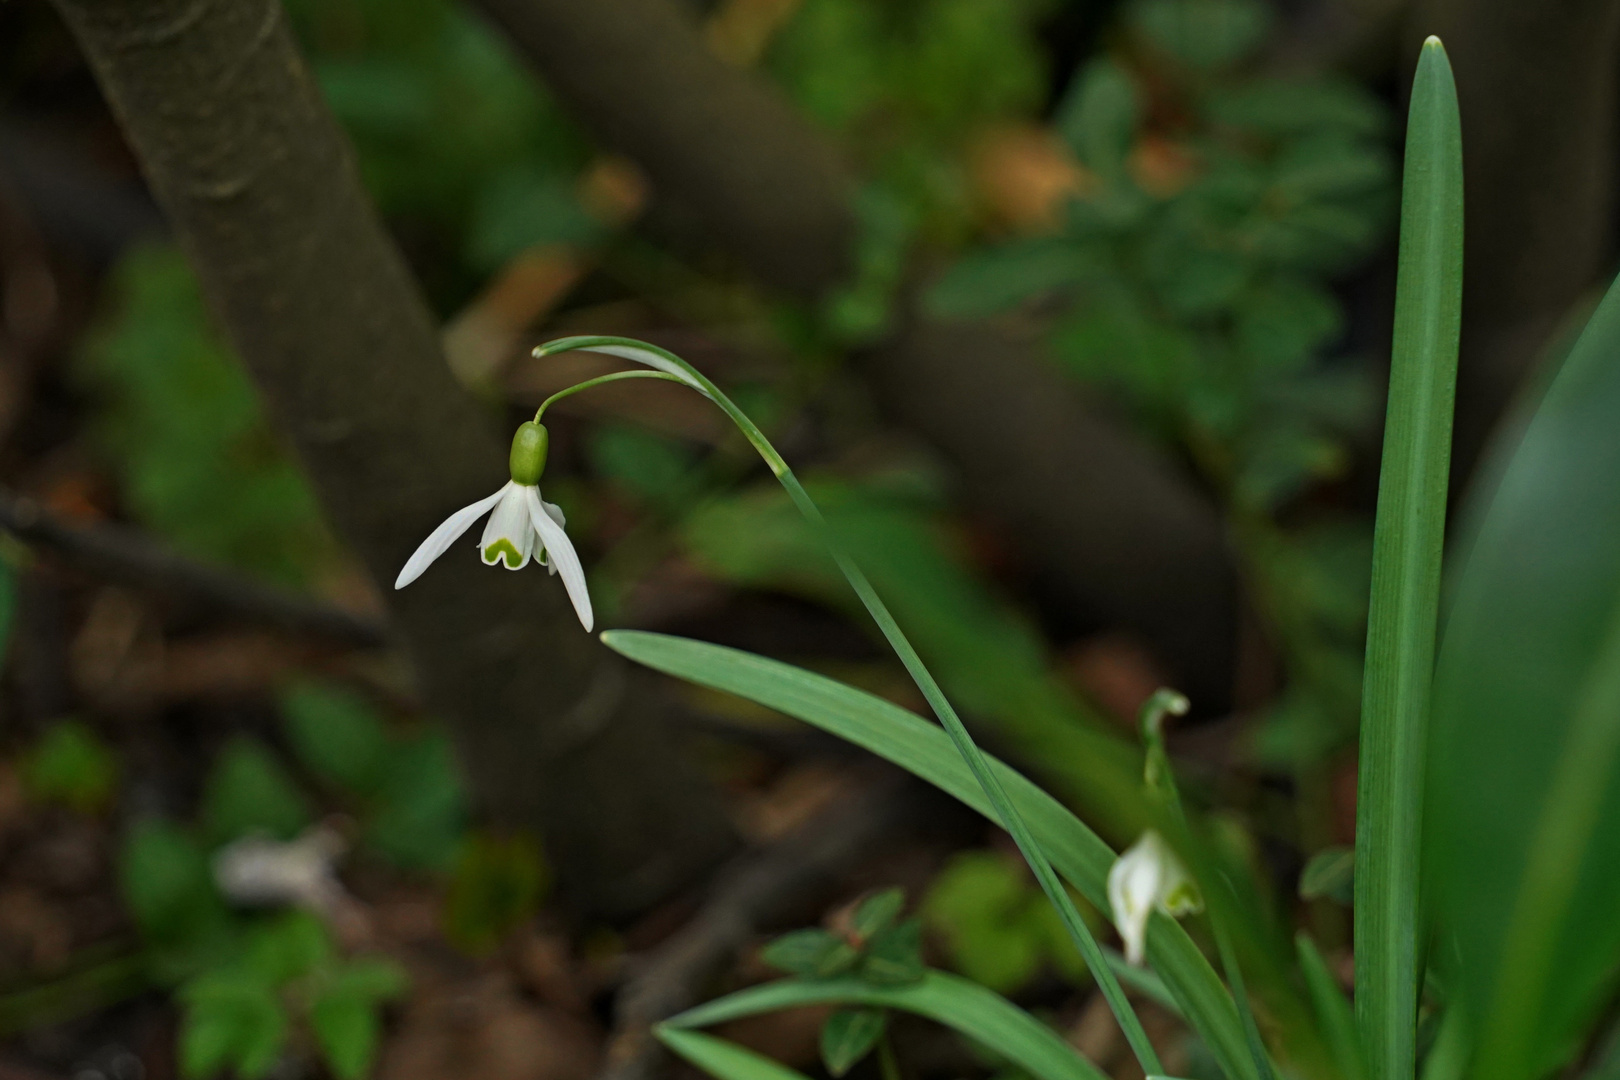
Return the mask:
M32 499L0 489L0 528L31 546L128 585L178 596L241 622L356 648L389 644L389 627L240 573L186 559L120 525L70 525Z

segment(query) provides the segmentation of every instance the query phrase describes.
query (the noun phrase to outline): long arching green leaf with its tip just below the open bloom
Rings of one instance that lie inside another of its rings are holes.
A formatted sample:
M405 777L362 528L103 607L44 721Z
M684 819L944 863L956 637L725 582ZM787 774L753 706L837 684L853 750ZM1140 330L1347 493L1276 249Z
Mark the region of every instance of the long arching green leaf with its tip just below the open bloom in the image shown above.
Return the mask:
M638 664L734 693L855 743L995 821L990 800L949 737L891 701L791 664L705 641L637 630L611 630L603 641ZM1115 852L1027 777L993 758L990 763L1058 873L1106 910ZM1256 1080L1231 997L1181 925L1155 915L1147 954L1226 1075Z

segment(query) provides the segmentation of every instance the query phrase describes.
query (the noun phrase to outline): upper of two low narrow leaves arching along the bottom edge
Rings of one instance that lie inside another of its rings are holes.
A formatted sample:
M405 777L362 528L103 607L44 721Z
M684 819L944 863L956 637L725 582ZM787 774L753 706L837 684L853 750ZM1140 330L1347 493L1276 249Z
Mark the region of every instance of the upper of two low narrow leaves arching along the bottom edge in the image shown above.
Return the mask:
M859 978L781 980L750 986L666 1020L701 1028L802 1006L876 1006L927 1017L988 1046L1040 1080L1105 1080L1103 1074L1045 1023L1011 1001L944 972L910 986L873 986Z

